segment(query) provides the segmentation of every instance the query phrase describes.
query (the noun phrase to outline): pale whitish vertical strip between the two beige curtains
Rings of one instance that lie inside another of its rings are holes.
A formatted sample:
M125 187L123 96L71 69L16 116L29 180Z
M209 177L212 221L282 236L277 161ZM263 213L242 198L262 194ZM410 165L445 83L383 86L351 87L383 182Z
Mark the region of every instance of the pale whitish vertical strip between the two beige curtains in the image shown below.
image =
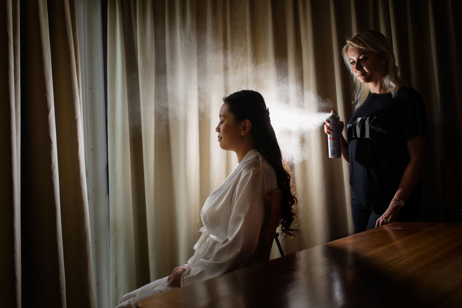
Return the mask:
M77 0L85 175L88 187L95 302L109 307L109 191L101 0Z

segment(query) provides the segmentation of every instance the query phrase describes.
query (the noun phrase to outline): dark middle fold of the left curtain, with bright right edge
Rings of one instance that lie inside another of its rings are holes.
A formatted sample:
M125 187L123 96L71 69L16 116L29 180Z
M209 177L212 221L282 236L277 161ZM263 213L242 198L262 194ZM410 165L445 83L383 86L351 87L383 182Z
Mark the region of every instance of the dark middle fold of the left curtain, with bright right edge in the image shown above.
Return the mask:
M46 2L35 1L22 2L20 11L27 20L21 23L22 300L44 301L50 292L50 306L66 307L48 11Z

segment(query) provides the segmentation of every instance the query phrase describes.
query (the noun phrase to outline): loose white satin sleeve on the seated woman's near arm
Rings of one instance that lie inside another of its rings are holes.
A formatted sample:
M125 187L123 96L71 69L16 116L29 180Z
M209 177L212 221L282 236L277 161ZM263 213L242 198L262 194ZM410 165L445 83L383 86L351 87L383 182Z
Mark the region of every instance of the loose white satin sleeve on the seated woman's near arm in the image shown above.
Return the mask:
M264 199L268 191L261 169L251 169L241 177L231 202L226 239L209 260L201 259L184 272L182 286L245 266L258 244L265 214Z

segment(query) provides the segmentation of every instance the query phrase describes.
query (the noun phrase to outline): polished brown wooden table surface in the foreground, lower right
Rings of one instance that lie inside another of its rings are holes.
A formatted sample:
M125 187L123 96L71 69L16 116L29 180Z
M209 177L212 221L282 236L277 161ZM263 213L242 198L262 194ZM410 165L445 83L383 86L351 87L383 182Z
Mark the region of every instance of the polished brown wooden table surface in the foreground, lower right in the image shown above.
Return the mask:
M462 223L390 223L138 305L462 307Z

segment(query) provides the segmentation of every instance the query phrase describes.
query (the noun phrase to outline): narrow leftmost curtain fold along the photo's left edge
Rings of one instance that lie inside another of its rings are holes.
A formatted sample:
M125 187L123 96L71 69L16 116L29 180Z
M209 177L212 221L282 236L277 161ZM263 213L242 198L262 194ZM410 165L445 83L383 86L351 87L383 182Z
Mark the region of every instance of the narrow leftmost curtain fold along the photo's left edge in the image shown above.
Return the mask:
M0 294L21 307L19 1L3 1L0 20Z

